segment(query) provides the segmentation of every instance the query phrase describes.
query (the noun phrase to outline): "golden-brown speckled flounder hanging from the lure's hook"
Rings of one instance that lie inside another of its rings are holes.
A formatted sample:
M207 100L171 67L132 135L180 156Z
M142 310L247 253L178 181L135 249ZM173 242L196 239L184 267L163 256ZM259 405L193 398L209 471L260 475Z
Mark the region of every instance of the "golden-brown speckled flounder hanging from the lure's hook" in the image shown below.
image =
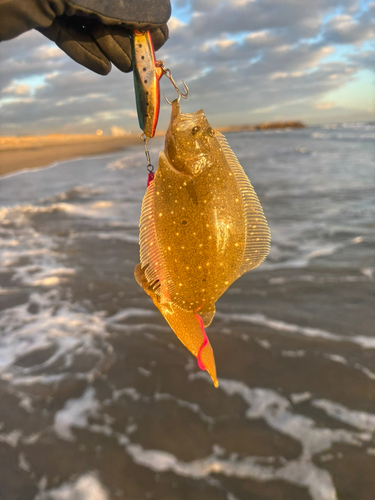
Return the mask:
M184 114L173 101L164 152L142 203L135 278L215 387L204 327L217 299L269 248L258 197L224 136L203 110Z

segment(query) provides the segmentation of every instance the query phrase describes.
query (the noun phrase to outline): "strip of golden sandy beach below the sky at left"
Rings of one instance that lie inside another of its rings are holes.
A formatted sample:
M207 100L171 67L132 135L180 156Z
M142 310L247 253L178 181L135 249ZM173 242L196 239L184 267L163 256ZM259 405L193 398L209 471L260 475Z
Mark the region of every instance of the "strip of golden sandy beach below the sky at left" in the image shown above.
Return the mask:
M0 175L40 168L52 163L119 151L140 142L139 136L51 134L47 136L0 137Z

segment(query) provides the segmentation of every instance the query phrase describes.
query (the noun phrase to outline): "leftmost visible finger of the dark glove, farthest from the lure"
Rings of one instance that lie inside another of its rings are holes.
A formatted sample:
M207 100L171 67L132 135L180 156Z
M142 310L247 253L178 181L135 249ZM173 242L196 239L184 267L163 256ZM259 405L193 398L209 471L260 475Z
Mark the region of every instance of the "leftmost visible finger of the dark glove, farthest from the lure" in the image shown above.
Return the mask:
M77 63L99 75L107 75L111 71L111 63L81 23L79 18L59 16L51 26L38 31Z

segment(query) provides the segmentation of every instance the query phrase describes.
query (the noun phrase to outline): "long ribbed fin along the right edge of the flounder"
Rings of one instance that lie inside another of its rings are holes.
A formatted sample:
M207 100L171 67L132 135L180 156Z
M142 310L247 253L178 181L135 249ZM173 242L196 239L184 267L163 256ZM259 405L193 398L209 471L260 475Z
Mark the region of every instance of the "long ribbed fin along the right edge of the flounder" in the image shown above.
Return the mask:
M238 277L259 266L270 251L271 233L258 196L238 162L225 137L216 132L216 138L235 176L245 211L246 243Z

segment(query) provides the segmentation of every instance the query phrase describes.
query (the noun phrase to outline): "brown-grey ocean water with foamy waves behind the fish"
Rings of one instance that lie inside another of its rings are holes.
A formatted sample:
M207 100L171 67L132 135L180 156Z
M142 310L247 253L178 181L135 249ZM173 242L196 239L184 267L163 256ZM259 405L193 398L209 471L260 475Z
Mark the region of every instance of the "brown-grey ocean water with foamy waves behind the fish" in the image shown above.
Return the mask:
M133 277L141 142L0 178L1 500L374 499L375 124L227 139L272 248L218 389Z

